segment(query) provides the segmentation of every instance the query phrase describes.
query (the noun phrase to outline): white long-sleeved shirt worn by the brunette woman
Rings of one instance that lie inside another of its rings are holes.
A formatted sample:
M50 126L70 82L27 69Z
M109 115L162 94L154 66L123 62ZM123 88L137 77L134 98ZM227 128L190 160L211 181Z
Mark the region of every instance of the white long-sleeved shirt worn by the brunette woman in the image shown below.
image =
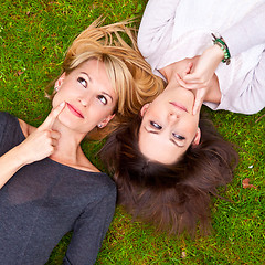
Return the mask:
M253 114L265 106L264 0L150 0L138 45L153 73L212 45L212 32L225 40L232 59L215 72L222 98L212 109ZM163 77L163 76L161 76Z

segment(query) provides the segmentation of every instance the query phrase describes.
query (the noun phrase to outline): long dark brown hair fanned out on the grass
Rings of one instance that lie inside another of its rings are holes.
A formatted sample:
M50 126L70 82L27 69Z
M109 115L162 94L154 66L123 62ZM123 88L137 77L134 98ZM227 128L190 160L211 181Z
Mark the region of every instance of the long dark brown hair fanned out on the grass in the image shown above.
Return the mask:
M237 153L206 118L200 118L201 142L173 165L150 162L139 150L141 118L136 116L109 136L100 157L114 172L118 202L134 218L160 231L194 234L210 230L211 194L232 180Z

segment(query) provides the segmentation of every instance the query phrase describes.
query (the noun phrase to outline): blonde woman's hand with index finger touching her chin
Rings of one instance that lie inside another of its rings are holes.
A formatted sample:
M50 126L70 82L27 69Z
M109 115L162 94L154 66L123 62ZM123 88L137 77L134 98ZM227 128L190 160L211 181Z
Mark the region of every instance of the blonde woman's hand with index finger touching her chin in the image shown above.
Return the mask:
M18 146L19 152L24 157L24 163L32 163L50 157L60 138L60 132L52 130L52 126L65 106L62 103L49 114L43 124Z

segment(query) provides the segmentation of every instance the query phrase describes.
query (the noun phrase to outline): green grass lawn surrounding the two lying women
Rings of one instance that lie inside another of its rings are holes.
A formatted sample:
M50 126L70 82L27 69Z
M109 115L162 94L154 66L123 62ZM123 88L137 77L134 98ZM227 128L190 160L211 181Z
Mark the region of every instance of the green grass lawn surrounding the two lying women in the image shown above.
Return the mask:
M106 23L141 15L145 0L6 0L0 7L0 110L39 126L50 112L44 87L61 72L73 39L100 14ZM219 131L240 147L241 162L224 201L213 199L213 232L208 237L167 236L132 223L117 208L97 264L263 264L265 109L245 116L209 110ZM258 120L256 123L256 120ZM93 153L99 145L84 145ZM243 189L250 178L256 189ZM62 264L71 234L47 264Z

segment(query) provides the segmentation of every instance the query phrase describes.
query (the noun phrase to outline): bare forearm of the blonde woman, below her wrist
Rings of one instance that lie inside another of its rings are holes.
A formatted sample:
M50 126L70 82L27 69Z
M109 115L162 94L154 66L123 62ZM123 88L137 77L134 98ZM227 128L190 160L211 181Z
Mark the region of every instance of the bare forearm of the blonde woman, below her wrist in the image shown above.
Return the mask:
M26 165L25 156L20 153L20 147L6 152L0 157L0 189L9 181L10 178L23 166Z

